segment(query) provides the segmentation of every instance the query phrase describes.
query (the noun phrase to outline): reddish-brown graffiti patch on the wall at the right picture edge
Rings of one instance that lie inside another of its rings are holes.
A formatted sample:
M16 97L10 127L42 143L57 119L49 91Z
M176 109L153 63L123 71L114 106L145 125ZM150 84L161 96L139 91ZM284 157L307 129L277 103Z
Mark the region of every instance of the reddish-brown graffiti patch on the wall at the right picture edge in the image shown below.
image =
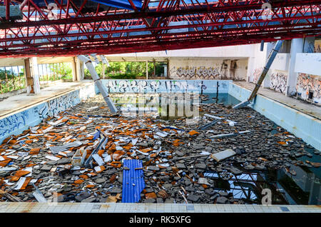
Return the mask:
M312 98L315 103L321 103L321 76L299 74L295 88L301 99L309 100L309 98Z

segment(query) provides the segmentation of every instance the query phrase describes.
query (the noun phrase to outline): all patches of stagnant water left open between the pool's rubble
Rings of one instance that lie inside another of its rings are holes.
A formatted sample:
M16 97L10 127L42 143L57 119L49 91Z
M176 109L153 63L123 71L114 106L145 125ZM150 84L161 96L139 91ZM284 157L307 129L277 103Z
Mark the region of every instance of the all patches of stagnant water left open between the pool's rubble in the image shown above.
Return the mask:
M234 106L240 103L238 99L230 96L230 94L218 94L218 96L217 94L204 95L206 96L205 98L199 99L200 104L216 102L225 106ZM133 94L113 94L111 96L117 106L130 105L131 107L138 107L138 99ZM131 101L128 100L128 97L131 98ZM148 106L148 102L155 99L155 97L157 96L145 96L143 101L144 106ZM193 101L191 102L193 103ZM177 105L177 102L175 105ZM161 108L158 108L157 111L160 113ZM178 117L161 116L164 120L173 120ZM277 133L277 125L275 124L274 127L275 130L271 131L272 134ZM312 157L301 156L296 158L298 161L321 163L321 156L313 153L314 149L305 149L312 154ZM243 169L242 166L236 167ZM214 181L216 191L233 193L234 198L243 198L248 203L261 204L262 198L265 196L261 192L263 188L269 188L272 192L272 204L320 205L321 168L292 165L290 169L294 169L297 175L292 176L285 171L285 168L282 168L277 171L269 169L267 171L245 171L243 169L243 174L239 176L235 176L227 171L217 173L205 170L204 176Z

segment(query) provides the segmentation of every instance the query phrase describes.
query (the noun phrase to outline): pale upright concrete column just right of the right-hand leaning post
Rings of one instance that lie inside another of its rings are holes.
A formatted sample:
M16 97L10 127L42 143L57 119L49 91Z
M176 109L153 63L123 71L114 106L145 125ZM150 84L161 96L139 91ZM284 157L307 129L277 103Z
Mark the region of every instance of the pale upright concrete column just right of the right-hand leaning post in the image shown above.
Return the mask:
M295 86L297 85L297 76L295 72L295 59L297 53L303 51L303 39L292 39L291 50L290 50L290 64L289 74L287 76L287 96L291 96L295 92Z

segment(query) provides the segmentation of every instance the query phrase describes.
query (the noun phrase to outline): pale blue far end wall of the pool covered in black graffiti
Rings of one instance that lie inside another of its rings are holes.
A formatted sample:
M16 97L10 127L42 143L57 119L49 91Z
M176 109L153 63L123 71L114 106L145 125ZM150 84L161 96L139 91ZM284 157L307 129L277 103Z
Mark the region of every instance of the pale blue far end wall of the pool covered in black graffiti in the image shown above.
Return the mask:
M151 93L151 92L193 92L216 91L213 80L103 80L108 92ZM228 92L229 81L219 81L220 93Z

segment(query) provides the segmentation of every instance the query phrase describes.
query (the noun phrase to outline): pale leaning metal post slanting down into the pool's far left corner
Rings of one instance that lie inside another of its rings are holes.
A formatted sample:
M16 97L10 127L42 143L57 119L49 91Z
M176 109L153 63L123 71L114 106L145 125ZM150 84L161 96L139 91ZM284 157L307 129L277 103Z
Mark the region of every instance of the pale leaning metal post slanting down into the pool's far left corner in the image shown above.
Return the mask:
M86 64L86 67L88 71L91 73L91 77L93 78L95 84L98 86L99 91L101 91L101 95L103 96L103 99L106 101L107 106L113 114L116 114L118 110L116 109L116 106L113 104L113 101L111 101L111 98L109 98L106 87L103 86L103 83L101 82L101 79L99 78L96 69L93 67L91 59L83 55L78 55L77 57L79 60L83 61L83 63Z

